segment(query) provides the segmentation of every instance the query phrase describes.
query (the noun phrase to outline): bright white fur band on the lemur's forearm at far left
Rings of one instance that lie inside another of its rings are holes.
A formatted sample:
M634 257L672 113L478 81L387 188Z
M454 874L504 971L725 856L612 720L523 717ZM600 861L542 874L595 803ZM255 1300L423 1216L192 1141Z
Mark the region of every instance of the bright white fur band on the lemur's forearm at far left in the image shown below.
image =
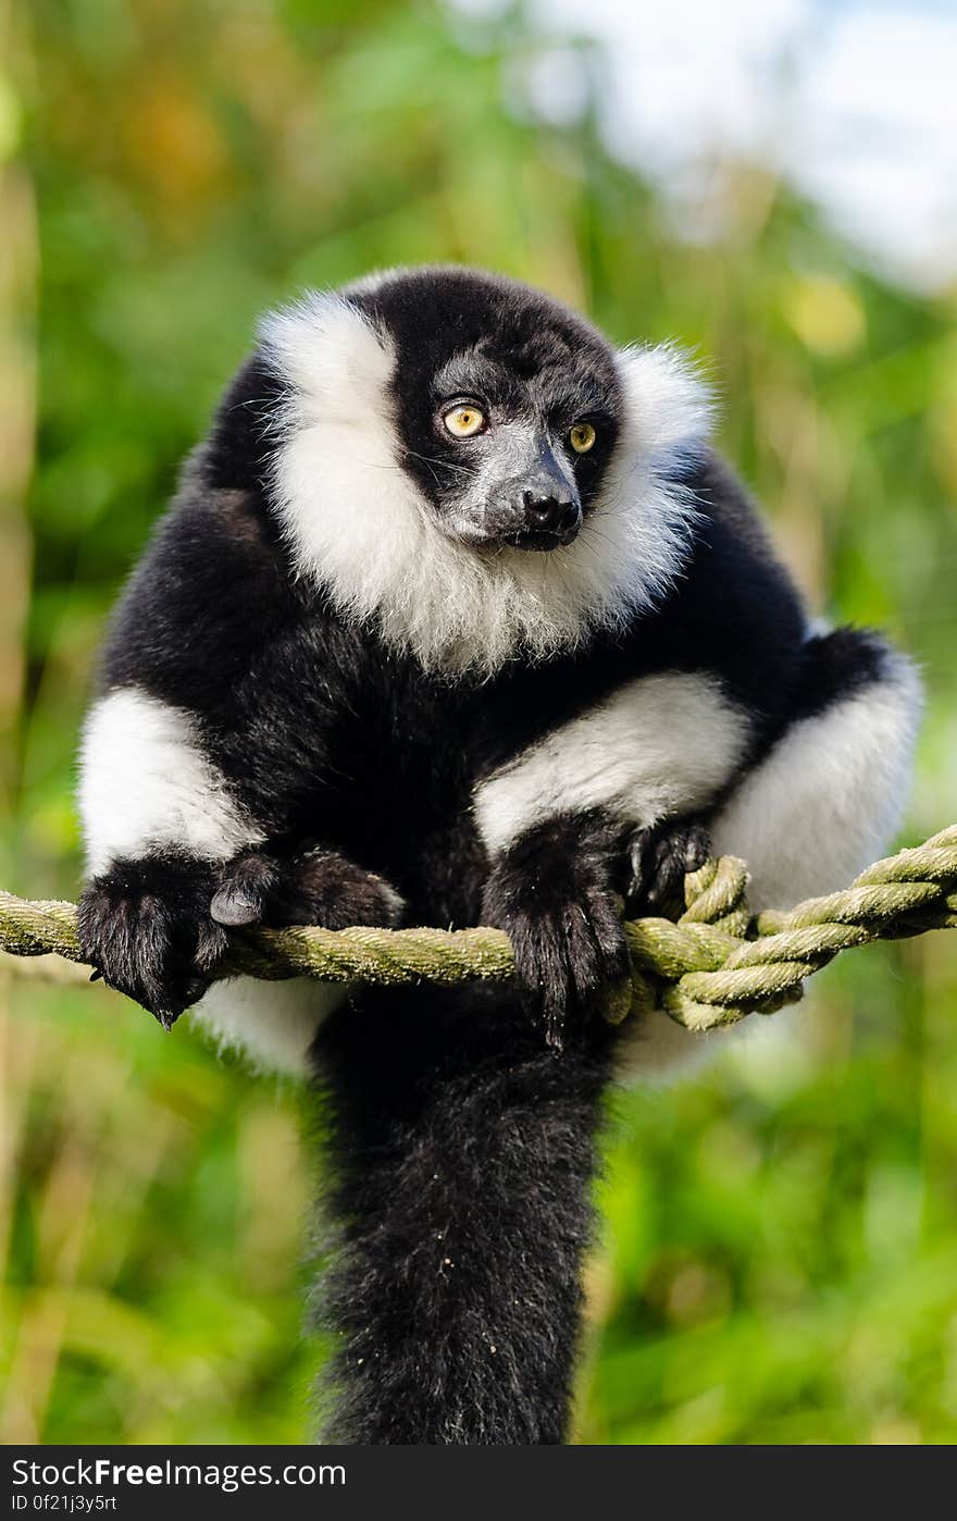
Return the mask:
M134 686L103 697L87 718L78 802L93 875L169 846L227 861L262 840L202 753L190 715Z

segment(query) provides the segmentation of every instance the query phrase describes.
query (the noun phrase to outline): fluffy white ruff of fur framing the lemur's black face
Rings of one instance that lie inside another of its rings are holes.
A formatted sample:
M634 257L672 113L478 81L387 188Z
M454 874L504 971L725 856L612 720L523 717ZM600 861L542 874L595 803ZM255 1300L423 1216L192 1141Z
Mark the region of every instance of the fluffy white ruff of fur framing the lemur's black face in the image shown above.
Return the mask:
M341 298L268 318L263 347L288 395L274 488L300 573L339 613L377 625L426 669L491 674L624 627L679 575L694 505L666 479L707 435L704 386L671 348L619 356L627 415L606 484L568 549L475 549L449 535L399 464L396 354Z

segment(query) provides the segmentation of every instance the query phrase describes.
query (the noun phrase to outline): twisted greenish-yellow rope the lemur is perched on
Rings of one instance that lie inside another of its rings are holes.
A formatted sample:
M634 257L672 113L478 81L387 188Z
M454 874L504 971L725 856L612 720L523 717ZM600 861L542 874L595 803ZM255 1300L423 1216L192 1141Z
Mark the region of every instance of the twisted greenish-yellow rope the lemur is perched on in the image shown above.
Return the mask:
M957 928L957 824L867 867L843 891L784 913L753 917L746 891L744 861L721 856L685 878L686 910L677 922L627 923L633 981L615 996L609 1018L659 1007L688 1030L714 1030L794 1002L805 978L838 951ZM0 949L79 961L76 905L0 891ZM70 981L78 975L62 961L44 969ZM453 984L502 983L513 969L501 929L292 928L234 932L218 976Z

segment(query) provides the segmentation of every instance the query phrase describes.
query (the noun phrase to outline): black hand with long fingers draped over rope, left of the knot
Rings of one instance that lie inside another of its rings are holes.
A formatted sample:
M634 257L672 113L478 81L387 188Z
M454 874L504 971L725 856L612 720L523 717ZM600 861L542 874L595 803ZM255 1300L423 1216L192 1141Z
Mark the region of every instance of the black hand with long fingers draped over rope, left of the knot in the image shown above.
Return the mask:
M482 923L510 935L522 996L557 1049L566 1021L598 1010L602 993L630 973L619 859L618 830L555 818L501 856L485 884Z

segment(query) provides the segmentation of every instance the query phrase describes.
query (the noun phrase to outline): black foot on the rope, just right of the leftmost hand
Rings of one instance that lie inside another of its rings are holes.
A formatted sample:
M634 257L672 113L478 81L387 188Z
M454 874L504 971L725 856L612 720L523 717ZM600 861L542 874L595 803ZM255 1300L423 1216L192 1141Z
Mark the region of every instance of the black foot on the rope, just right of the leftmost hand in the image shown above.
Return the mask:
M335 850L301 850L291 856L243 850L221 872L210 913L218 925L400 923L405 903L382 876Z

